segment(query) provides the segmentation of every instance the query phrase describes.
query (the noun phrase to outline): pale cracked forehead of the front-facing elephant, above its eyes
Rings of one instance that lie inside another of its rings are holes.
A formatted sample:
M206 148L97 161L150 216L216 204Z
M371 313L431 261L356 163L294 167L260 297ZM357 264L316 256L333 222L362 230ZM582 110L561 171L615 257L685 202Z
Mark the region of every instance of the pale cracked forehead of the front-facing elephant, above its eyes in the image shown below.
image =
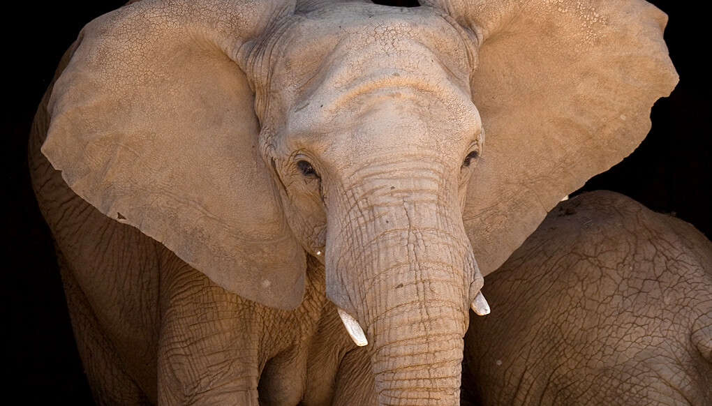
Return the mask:
M424 7L339 4L296 16L271 52L271 108L295 131L343 122L390 96L468 109L475 54L463 35Z

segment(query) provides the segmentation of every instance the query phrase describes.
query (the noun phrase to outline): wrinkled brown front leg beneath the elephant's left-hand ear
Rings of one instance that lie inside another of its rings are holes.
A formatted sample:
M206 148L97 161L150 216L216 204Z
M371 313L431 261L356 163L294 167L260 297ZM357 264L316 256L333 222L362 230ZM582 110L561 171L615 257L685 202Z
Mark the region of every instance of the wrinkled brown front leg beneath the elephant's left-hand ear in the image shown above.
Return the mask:
M169 253L161 267L159 403L258 406L263 360L251 303Z

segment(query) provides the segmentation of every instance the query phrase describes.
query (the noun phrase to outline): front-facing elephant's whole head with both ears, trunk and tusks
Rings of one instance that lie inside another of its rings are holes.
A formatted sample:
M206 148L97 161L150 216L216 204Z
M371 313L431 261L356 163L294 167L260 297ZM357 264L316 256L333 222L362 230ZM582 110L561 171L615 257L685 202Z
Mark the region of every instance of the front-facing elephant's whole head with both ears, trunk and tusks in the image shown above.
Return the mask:
M456 404L483 274L674 87L665 22L638 0L139 1L80 34L42 151L246 299L298 306L315 257L379 401Z

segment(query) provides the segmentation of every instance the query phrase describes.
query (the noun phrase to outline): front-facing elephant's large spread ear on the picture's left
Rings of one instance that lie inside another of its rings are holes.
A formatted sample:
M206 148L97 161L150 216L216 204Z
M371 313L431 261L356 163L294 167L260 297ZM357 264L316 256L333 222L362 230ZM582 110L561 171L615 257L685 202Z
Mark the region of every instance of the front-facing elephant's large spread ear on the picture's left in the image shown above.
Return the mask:
M48 106L43 154L79 196L224 289L293 309L305 253L258 151L236 63L285 1L145 0L80 34Z

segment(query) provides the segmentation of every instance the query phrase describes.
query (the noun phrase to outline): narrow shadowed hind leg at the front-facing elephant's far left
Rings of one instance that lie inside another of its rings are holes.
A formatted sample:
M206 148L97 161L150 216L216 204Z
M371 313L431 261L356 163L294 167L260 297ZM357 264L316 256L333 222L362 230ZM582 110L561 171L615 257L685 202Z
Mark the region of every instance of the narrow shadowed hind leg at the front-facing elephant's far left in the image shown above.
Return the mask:
M58 252L62 283L74 338L94 400L98 405L150 405L126 372L110 339L103 333L72 270Z

